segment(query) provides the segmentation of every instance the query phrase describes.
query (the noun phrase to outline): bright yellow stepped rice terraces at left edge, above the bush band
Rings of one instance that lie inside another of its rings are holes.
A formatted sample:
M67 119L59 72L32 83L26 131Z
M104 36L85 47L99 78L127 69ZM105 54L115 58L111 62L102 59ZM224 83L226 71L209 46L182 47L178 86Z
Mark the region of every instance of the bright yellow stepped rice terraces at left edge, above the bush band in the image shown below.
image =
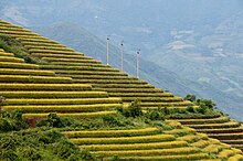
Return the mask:
M21 109L24 117L46 117L50 112L97 117L115 115L113 109L122 106L120 98L109 98L88 84L73 84L71 77L27 64L2 49L0 66L0 95L6 98L2 110Z

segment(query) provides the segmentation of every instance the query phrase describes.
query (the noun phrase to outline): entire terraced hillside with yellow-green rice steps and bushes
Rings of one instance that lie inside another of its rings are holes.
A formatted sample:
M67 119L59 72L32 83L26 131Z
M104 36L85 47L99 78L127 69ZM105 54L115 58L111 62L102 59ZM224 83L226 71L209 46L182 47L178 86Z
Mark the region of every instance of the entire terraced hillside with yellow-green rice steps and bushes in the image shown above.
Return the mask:
M0 20L0 160L241 161L215 106Z

